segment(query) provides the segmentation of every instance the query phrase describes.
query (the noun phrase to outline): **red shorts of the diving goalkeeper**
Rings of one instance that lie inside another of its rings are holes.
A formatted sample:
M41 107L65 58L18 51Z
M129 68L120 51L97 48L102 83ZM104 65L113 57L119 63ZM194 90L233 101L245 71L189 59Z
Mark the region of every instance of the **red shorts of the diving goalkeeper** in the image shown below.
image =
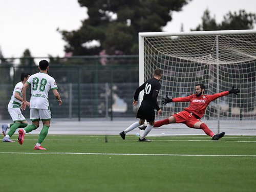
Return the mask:
M173 116L176 119L176 123L184 123L190 128L194 128L194 124L200 121L194 115L190 114L187 111L176 113Z

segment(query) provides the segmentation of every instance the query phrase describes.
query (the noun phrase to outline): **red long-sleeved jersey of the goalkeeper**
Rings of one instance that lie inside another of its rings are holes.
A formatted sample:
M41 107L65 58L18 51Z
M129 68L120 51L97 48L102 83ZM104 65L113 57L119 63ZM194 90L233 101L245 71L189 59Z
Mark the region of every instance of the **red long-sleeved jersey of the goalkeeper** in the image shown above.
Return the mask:
M197 115L198 117L202 118L205 110L208 106L208 104L211 101L214 101L215 99L228 95L229 92L221 92L217 93L214 95L200 95L197 97L195 94L189 95L187 97L178 97L178 98L173 98L173 102L190 102L188 108L185 108L185 111L188 111L190 113L193 113Z

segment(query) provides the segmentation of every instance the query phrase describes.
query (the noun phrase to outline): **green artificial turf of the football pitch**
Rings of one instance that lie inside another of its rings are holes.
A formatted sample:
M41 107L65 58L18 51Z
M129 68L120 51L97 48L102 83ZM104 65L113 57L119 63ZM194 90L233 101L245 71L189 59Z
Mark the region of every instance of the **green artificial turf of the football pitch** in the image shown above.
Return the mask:
M14 135L12 139L15 139ZM52 136L0 143L1 191L255 191L256 136ZM16 140L16 139L15 139ZM107 142L106 142L107 141Z

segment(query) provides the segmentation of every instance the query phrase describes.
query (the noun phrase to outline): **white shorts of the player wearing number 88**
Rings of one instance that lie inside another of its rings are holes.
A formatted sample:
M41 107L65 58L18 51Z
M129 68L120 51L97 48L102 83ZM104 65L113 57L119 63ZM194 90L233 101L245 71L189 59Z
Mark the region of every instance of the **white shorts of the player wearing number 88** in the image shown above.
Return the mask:
M31 121L50 121L52 118L50 108L48 110L42 109L30 109L30 120Z

